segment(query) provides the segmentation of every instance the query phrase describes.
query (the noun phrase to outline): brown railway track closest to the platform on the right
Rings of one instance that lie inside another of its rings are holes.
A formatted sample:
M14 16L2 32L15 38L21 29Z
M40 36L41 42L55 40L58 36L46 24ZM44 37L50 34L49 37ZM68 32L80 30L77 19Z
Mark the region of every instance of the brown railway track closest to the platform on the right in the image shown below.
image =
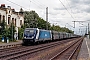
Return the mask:
M82 38L83 39L83 38ZM52 58L50 60L72 60L74 57L75 52L78 48L80 48L82 39L78 40L77 42L73 43L72 45L68 46ZM74 58L76 60L76 58Z

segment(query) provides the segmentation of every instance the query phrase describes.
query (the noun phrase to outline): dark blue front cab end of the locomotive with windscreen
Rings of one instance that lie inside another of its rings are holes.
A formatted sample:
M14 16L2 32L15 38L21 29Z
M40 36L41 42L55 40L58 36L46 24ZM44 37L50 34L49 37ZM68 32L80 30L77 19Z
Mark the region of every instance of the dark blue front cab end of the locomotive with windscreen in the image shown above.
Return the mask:
M23 42L24 43L35 42L37 32L38 32L37 28L26 28L24 30Z

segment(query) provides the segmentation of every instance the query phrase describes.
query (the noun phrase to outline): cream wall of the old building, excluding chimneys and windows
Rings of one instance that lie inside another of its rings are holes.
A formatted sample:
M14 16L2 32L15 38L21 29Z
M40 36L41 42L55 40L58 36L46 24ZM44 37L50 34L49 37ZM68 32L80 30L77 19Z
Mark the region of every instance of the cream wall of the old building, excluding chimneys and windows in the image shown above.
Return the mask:
M17 36L17 39L18 39L18 28L21 27L20 20L22 20L21 24L22 25L24 24L23 15L20 15L19 12L14 12L13 13L12 9L10 9L10 8L4 8L4 10L0 9L0 15L1 15L1 21L3 20L3 16L5 16L5 22L7 23L8 26L10 26L10 24L12 23L12 20L14 21L14 25L16 23L16 25L15 25L15 29L16 29L15 35ZM10 20L8 20L9 17L10 17ZM16 20L16 22L15 22L15 20Z

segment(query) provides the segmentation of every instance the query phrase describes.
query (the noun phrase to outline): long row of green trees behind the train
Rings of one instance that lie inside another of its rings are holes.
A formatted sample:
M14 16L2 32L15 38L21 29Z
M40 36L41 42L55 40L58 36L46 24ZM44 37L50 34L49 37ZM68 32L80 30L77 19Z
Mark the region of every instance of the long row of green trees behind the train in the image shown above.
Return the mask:
M25 11L24 12L24 22L25 22L25 27L26 28L40 28L40 29L46 29L46 21L39 17L39 15L35 11ZM69 30L68 28L65 27L60 27L60 26L55 26L55 25L50 25L48 22L48 29L49 30L55 30L55 31L60 31L60 32L68 32L68 33L73 33L73 31Z

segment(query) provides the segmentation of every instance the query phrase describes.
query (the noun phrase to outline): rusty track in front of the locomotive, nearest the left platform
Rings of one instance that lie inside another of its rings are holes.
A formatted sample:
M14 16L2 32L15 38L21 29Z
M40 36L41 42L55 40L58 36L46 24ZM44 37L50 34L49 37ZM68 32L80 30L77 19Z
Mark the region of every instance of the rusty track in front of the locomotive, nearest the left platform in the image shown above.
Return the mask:
M55 42L57 43L57 42ZM52 44L52 43L51 43ZM34 47L34 48L33 48ZM24 50L24 49L36 49L36 48L40 48L40 47L44 47L44 44L42 45L39 45L38 47L35 47L35 46L19 46L19 47L13 47L13 48L5 48L5 49L0 49L0 55L2 55L3 53L10 53L10 52L14 52L14 51L20 51L20 50Z

